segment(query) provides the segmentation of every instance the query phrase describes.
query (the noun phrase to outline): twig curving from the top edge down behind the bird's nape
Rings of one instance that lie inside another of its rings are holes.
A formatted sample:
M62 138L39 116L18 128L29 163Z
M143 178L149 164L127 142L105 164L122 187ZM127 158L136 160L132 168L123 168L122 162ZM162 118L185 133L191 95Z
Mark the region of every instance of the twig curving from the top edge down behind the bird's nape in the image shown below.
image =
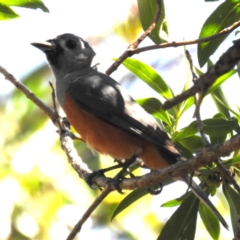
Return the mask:
M156 0L157 3L157 12L155 14L155 17L153 19L152 24L149 26L149 28L135 41L134 43L130 44L127 48L127 50L107 69L106 74L110 75L115 70L117 70L118 66L128 57L132 55L132 52L135 49L138 49L139 44L154 30L154 28L157 25L157 22L159 21L161 17L161 1ZM130 54L131 53L131 54Z

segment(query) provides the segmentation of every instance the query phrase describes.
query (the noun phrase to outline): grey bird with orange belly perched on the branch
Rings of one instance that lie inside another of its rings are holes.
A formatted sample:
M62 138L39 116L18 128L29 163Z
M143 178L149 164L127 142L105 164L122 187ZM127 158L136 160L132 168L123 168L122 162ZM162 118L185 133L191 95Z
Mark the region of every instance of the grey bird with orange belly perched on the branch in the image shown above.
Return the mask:
M184 159L156 119L117 81L91 66L96 53L87 41L65 33L45 43L31 44L45 53L56 79L58 102L91 149L129 164L140 158L152 170ZM228 229L191 176L182 176L181 180Z

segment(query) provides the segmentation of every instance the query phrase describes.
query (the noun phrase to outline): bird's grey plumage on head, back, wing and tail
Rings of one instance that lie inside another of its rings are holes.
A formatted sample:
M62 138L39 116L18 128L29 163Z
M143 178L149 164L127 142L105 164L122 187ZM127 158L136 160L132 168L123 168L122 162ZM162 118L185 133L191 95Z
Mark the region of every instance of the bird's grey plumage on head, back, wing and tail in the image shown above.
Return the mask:
M95 52L87 42L73 34L63 34L48 42L48 45L33 43L33 46L47 56L56 77L57 98L62 107L65 95L69 94L84 111L154 144L168 164L184 159L157 121L121 85L91 67ZM190 176L182 179L191 184L193 193L228 228L221 214Z

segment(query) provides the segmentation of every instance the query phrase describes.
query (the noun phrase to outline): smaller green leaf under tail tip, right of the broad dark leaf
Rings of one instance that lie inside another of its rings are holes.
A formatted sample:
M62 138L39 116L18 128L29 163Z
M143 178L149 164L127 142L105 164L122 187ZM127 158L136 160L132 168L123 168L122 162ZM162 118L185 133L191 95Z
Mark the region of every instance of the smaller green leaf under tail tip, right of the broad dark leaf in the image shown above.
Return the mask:
M214 240L218 240L220 235L220 224L216 216L202 202L200 202L199 205L199 213L211 237Z

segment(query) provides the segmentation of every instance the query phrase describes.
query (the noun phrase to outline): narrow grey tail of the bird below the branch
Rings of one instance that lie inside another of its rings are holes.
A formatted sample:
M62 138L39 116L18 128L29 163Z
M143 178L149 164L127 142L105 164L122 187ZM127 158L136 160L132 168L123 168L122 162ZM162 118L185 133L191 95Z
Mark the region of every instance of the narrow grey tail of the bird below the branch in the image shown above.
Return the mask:
M222 223L222 225L228 229L228 224L222 217L222 215L218 212L218 210L215 208L215 206L212 204L212 202L209 200L206 193L201 189L200 186L197 185L196 182L194 182L193 179L191 179L190 175L185 175L182 177L182 180L187 183L192 192L197 196L213 213L214 215L219 219L219 221Z

